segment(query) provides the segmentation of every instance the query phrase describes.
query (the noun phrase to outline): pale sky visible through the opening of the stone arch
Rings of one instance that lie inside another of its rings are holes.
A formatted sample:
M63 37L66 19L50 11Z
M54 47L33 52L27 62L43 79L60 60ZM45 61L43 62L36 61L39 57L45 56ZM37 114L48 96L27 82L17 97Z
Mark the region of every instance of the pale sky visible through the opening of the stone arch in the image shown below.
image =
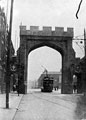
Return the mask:
M62 68L61 54L49 47L41 47L33 50L29 54L28 60L28 78L30 80L37 80L45 69L48 72L59 72Z

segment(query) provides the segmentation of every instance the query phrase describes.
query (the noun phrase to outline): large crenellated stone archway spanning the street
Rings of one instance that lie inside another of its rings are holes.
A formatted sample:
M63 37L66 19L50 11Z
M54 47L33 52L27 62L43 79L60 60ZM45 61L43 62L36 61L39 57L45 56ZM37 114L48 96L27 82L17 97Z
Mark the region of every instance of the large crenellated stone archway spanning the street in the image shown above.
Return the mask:
M71 67L74 64L75 52L72 48L72 38L73 28L67 28L67 31L65 32L64 28L61 27L56 27L55 31L52 31L51 27L43 27L43 30L40 31L38 26L31 26L30 30L26 30L26 26L20 26L18 59L20 66L23 66L23 70L20 69L19 71L19 86L21 93L27 93L28 54L32 50L42 46L51 47L62 55L61 93L69 94L73 92L73 71Z

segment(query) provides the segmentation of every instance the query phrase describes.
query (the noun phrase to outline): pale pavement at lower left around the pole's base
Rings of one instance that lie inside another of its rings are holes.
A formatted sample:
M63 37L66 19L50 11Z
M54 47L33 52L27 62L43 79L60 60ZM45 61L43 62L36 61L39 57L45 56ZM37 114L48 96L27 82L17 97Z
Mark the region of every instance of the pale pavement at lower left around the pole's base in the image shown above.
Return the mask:
M13 120L23 95L9 94L9 109L6 109L6 94L0 94L0 120Z

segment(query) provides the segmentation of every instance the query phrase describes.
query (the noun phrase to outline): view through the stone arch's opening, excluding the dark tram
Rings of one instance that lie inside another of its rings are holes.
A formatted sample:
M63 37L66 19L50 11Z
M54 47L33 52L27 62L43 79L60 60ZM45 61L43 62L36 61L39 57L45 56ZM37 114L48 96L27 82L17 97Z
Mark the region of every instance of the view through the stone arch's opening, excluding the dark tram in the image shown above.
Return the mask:
M32 50L28 55L27 93L29 90L41 90L46 70L48 76L53 78L53 92L61 93L62 56L47 46Z

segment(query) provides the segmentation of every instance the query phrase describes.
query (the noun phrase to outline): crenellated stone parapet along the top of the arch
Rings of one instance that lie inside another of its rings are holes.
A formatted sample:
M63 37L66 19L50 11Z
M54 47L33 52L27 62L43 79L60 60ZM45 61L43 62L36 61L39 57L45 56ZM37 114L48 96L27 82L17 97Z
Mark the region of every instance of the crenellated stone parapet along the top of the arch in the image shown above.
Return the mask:
M52 30L52 27L43 27L39 30L39 26L30 26L30 30L27 30L26 26L20 26L20 35L73 37L73 34L73 28L64 31L64 27L55 27L55 30Z

